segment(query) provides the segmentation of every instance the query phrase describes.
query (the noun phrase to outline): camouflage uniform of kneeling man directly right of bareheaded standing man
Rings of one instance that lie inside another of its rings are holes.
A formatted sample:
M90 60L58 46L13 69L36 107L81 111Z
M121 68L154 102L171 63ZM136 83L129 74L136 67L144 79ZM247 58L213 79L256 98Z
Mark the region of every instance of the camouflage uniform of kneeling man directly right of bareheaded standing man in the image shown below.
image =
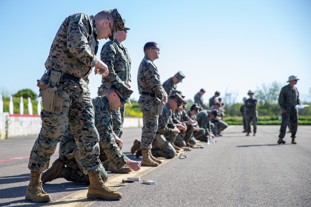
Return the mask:
M152 142L152 155L155 157L165 157L171 159L175 157L176 150L170 143L174 141L176 135L174 135L174 127L176 125L173 123L172 110L169 109L168 104L163 107L162 115L159 115L159 126L156 136L163 135L165 138L165 145L160 146L157 139Z

